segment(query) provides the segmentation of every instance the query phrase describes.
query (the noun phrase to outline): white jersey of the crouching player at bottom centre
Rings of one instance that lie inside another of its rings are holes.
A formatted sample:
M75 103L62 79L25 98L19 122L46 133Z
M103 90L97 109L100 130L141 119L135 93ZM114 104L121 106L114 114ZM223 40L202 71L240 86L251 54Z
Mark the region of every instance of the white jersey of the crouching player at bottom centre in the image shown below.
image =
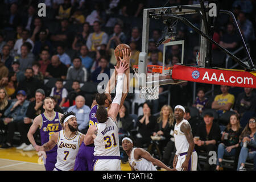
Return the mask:
M144 158L136 160L134 158L135 149L136 147L134 147L133 150L131 150L131 156L128 159L130 166L132 166L135 169L135 171L157 171L155 166L150 161Z

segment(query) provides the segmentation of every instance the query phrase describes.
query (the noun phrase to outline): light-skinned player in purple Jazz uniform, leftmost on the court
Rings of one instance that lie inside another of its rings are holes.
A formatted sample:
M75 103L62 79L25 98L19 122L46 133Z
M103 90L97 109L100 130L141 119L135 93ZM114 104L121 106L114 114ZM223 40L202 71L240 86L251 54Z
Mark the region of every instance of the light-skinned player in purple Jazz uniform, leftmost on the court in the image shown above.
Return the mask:
M27 133L27 137L30 140L32 146L34 146L36 151L39 151L40 146L35 142L33 135L36 130L40 129L40 138L41 143L47 143L53 133L58 132L62 129L60 125L60 118L63 114L55 112L53 100L51 97L44 98L43 101L44 113L35 117L34 122L32 123L30 130ZM52 148L52 150L47 151L47 159L44 166L46 171L52 171L56 163L57 156L57 146Z

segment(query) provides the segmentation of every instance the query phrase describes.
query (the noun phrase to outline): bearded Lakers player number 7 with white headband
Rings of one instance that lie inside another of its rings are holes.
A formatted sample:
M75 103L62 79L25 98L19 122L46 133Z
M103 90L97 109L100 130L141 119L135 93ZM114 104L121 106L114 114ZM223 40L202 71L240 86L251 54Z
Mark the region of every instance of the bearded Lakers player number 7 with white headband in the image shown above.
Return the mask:
M75 113L65 112L60 119L63 130L54 133L47 143L39 148L38 155L47 159L46 151L57 146L57 162L53 171L71 171L84 135L78 131Z

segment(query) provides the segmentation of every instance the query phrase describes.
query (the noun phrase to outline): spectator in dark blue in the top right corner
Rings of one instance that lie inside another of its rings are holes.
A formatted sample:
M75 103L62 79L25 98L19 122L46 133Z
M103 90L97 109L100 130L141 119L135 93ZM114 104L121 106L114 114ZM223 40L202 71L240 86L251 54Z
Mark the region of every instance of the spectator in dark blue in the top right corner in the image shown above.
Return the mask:
M245 13L242 11L237 16L237 23L240 26L245 43L251 43L253 40L255 40L253 24L249 19L246 18Z

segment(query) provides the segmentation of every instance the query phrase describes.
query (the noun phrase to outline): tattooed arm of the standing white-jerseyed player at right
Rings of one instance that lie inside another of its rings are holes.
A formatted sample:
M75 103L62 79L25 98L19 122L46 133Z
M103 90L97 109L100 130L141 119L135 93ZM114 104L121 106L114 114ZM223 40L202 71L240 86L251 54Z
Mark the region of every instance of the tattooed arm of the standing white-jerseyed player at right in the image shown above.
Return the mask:
M182 123L182 125L180 126L180 130L185 134L185 137L187 138L188 143L189 143L187 158L185 159L185 161L183 162L183 164L181 166L181 168L183 168L183 171L187 171L188 170L188 162L189 162L189 159L191 158L192 152L195 148L195 143L194 143L193 135L191 133L191 126L189 124Z

